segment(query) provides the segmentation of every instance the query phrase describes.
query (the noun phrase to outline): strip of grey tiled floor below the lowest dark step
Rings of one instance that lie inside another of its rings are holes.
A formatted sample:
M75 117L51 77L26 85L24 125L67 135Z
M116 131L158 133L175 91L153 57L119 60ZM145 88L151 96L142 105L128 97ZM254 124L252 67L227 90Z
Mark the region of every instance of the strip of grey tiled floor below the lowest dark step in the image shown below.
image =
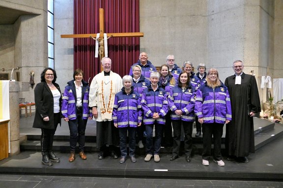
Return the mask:
M0 175L1 188L283 188L282 182Z

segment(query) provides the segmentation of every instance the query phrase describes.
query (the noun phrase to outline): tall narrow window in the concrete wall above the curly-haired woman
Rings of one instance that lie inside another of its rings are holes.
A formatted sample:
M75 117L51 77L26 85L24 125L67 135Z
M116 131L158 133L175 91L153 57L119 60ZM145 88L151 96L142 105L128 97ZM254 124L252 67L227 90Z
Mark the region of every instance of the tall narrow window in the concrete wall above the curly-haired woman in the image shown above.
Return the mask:
M48 67L54 69L54 0L48 0Z

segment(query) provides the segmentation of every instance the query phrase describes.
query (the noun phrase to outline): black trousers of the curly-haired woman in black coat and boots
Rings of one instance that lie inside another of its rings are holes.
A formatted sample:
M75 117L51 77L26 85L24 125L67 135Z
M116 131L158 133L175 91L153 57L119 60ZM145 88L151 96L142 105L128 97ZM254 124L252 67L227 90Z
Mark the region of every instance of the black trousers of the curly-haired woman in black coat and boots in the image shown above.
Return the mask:
M54 113L54 129L41 129L40 144L42 153L51 152L53 150L54 135L60 118L60 113Z

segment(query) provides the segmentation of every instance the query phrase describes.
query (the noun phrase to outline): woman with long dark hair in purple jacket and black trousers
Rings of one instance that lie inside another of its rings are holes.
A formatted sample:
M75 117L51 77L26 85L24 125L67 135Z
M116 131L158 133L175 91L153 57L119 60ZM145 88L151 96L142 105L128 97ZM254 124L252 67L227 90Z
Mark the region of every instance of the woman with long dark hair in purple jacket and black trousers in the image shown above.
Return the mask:
M184 151L186 161L191 162L192 131L195 120L195 88L190 82L190 75L186 71L179 74L178 85L174 86L168 96L168 103L173 126L173 150L170 161L178 158L181 144L181 128L184 129Z

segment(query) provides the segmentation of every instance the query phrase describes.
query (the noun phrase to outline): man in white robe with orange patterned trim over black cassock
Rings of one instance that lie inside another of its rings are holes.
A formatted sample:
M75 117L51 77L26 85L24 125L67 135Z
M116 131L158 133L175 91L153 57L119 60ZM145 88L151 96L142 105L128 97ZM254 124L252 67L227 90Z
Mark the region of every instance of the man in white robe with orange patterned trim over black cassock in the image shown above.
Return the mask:
M96 120L96 146L100 149L98 159L103 159L107 154L117 159L115 145L119 145L119 132L113 126L112 113L114 96L123 87L122 78L111 71L110 58L102 58L101 64L103 71L94 76L90 84L89 107L92 107Z

